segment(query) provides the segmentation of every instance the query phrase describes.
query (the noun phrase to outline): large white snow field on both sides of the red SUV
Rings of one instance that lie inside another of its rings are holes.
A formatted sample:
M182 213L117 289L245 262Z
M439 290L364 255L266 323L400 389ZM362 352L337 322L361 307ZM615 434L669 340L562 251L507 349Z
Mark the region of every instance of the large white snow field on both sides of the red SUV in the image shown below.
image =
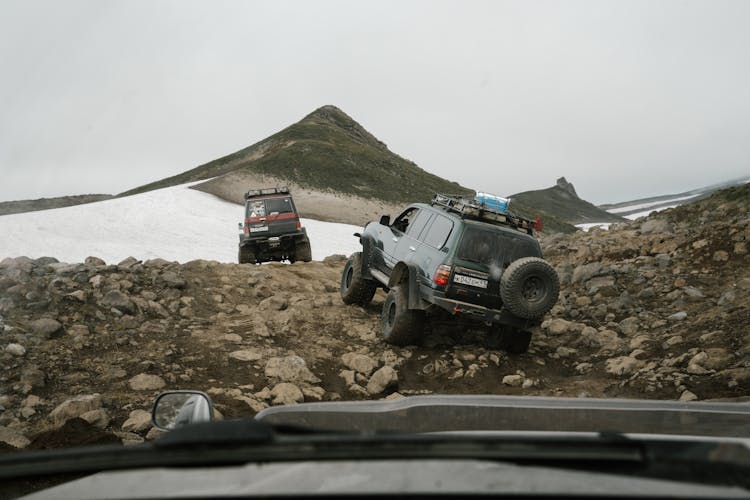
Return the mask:
M0 260L25 255L116 264L126 257L237 262L242 206L189 184L73 207L0 216ZM362 228L302 219L313 260L360 250Z

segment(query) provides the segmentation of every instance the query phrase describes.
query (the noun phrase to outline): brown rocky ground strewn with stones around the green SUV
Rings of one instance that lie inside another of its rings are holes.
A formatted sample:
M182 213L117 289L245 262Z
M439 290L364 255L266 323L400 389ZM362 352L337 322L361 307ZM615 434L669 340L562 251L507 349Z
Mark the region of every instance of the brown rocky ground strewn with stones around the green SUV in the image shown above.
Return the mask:
M177 388L205 390L225 417L427 393L749 396L750 196L722 196L545 237L560 300L523 355L489 347L481 328L437 324L420 346L385 344L382 292L367 308L341 302L343 256L262 266L7 258L0 445L151 439L154 396Z

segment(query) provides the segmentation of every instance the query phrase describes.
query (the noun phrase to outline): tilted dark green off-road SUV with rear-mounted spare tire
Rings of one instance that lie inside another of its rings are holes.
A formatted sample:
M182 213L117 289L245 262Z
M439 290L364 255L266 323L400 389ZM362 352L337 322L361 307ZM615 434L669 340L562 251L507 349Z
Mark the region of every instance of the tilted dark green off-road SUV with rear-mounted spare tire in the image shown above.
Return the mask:
M528 350L530 328L557 302L557 273L532 236L535 222L476 199L436 195L391 222L387 215L357 233L341 277L341 297L365 306L377 288L386 342L413 344L425 317L471 319L489 327L497 345Z

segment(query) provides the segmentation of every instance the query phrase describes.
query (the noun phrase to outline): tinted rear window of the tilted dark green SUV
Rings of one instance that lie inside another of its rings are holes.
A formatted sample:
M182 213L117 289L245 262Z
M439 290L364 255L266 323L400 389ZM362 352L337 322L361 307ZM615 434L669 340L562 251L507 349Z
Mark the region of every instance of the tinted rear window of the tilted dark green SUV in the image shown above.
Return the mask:
M506 267L521 257L541 257L535 240L518 238L500 231L486 231L467 226L461 237L456 257L486 266Z

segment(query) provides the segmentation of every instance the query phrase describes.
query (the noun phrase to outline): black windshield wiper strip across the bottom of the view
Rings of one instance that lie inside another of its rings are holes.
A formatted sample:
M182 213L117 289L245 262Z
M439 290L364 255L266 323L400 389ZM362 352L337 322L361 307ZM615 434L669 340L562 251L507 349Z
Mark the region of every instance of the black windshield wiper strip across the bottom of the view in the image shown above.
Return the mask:
M750 488L740 442L628 439L603 433L534 436L316 432L253 420L194 424L143 445L0 456L0 480L148 467L253 462L476 459Z

